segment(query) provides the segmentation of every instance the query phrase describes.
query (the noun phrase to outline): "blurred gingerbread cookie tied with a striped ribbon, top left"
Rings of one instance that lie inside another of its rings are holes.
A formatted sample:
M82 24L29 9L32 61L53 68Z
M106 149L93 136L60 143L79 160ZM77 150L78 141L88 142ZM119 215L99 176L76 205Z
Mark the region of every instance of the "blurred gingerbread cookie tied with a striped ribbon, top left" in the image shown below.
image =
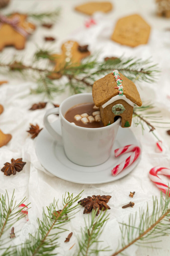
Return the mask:
M35 25L27 21L27 15L14 13L8 17L0 14L0 51L5 46L21 50Z

